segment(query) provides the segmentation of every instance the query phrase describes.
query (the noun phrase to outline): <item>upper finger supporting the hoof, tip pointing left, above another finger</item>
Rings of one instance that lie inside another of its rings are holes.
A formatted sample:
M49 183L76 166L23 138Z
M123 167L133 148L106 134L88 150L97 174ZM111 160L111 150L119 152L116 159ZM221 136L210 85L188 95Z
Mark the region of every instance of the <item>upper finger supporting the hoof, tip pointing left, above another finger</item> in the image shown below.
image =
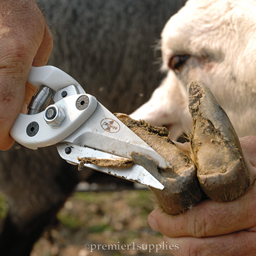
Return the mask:
M170 237L220 236L253 227L256 224L256 188L232 202L205 200L177 216L157 209L148 217L150 226Z

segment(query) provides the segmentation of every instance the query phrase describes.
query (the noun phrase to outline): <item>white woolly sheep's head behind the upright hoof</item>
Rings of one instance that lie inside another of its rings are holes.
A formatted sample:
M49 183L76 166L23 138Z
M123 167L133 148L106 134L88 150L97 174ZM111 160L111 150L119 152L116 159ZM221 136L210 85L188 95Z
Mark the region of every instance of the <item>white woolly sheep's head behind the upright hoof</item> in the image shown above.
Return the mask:
M186 85L200 79L225 109L238 136L256 135L255 13L256 1L189 0L163 29L167 77L132 117L172 124L171 136L177 138L191 123ZM191 57L181 72L173 72L168 63L180 54Z

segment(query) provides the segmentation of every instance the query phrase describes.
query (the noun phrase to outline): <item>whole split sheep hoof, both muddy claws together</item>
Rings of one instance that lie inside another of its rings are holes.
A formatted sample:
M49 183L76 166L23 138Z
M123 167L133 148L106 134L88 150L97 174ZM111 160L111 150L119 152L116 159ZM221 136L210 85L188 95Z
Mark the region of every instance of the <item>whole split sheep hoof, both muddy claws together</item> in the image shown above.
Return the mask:
M173 166L172 170L159 170L147 156L136 152L131 155L134 163L144 166L164 185L163 190L151 189L168 214L186 211L205 195L219 202L235 200L253 183L234 127L209 88L193 81L188 85L188 94L193 120L190 144L193 160L170 140L164 127L116 115Z

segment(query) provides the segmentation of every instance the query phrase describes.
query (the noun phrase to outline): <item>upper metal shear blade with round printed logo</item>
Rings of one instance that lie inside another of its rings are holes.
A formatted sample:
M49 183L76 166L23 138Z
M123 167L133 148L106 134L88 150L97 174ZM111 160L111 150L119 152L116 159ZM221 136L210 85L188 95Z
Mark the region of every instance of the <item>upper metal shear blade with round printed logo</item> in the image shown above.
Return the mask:
M160 168L172 168L163 157L98 102L94 113L62 142L94 148L115 156L131 158L132 152L150 157Z

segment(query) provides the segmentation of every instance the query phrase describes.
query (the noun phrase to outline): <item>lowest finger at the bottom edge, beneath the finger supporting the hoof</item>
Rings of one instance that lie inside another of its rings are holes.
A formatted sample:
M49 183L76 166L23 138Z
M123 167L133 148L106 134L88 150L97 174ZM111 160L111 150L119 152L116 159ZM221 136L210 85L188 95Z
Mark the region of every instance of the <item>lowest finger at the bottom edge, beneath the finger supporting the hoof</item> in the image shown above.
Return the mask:
M256 233L247 230L225 236L195 238L164 236L164 241L174 256L253 256L256 255ZM170 245L175 246L170 246ZM175 250L179 248L179 250Z

